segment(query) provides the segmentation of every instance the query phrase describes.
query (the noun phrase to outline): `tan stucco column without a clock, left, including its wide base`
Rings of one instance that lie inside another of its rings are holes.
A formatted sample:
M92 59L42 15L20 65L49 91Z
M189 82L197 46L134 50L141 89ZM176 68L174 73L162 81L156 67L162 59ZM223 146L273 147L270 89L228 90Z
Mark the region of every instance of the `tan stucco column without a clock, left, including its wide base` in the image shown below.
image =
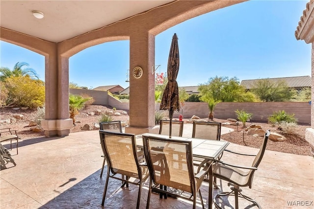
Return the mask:
M73 127L69 119L69 59L53 53L45 56L45 120L41 122L46 137L68 136Z

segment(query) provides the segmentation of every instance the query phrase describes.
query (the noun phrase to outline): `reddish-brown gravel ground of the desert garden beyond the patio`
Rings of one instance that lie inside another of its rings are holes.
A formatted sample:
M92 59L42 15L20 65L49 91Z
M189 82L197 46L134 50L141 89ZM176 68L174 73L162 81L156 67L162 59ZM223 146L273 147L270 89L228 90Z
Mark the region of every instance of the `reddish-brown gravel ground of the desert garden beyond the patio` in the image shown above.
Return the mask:
M107 108L105 106L100 105L88 105L83 110L80 111L80 114L76 116L76 125L73 126L73 128L70 130L70 133L74 132L80 132L81 127L83 127L85 124L89 124L91 127L94 127L94 123L97 123L100 119L99 115L95 116L89 116L87 113L89 112L96 112L97 110L100 110L104 112L105 110L111 110L110 108ZM12 107L7 108L1 108L0 109L0 121L12 119L13 115L23 115L24 119L16 119L15 122L12 122L10 124L6 124L5 122L1 122L1 129L2 128L12 128L14 130L18 131L18 135L22 139L31 139L31 138L38 138L43 137L44 132L37 132L34 133L30 131L30 127L28 127L29 120L34 120L36 117L37 110L13 110ZM122 112L121 110L116 110L116 112ZM127 121L129 119L129 116L113 116L114 120L122 120ZM187 119L184 119L185 121ZM214 118L214 121L216 122L230 122L226 119L218 119ZM278 134L284 135L280 130L278 130L278 127L273 127L267 123L261 123L261 122L247 122L246 126L249 126L251 124L256 124L262 126L263 130L270 129L271 132L276 132ZM241 144L249 147L255 147L259 148L262 144L262 137L253 137L246 135L244 129L242 128L242 122L239 122L239 126L236 129L236 126L233 125L224 125L226 127L232 128L235 131L230 132L229 134L222 135L222 139L230 141L235 144ZM291 153L296 155L311 155L311 148L310 144L305 140L305 129L310 128L309 125L298 125L297 128L294 130L293 134L290 135L284 135L287 140L285 141L272 141L268 140L267 143L267 150L273 150L278 152L285 152L285 153Z

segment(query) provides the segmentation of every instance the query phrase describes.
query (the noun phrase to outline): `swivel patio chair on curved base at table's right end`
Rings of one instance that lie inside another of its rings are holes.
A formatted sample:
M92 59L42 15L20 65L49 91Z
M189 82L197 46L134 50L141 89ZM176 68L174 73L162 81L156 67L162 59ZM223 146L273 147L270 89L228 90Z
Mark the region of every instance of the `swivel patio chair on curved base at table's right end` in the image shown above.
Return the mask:
M228 182L228 186L232 186L230 192L219 192L213 197L213 202L218 209L221 209L221 207L219 206L219 203L216 201L216 198L227 195L235 196L235 209L239 208L238 197L244 198L252 202L259 209L261 209L261 206L255 200L241 193L242 189L240 188L240 186L249 186L249 188L252 187L254 172L257 170L259 164L262 161L262 157L266 149L267 139L269 135L270 131L267 130L264 135L264 141L257 155L247 155L226 150L237 155L255 156L255 159L253 160L252 163L252 167L233 165L229 163L224 163L222 161L216 161L213 164L212 167L213 177L225 180Z

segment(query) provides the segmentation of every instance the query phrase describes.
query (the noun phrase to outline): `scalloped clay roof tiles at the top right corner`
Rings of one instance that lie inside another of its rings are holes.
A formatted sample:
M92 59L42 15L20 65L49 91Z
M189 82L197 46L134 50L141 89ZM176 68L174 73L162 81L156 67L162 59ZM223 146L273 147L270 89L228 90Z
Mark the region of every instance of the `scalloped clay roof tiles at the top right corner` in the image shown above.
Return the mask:
M310 33L312 28L311 26L306 27L305 25L307 24L307 22L311 22L313 21L313 16L312 16L312 20L310 18L311 13L314 12L314 0L310 0L307 4L306 4L306 9L303 10L303 15L300 18L300 21L298 23L298 26L296 27L296 31L294 32L295 38L297 40L303 40L305 35L307 33ZM311 25L311 23L308 23L309 25ZM302 36L301 36L302 33ZM310 40L305 40L306 43L311 43ZM308 44L309 44L308 43Z

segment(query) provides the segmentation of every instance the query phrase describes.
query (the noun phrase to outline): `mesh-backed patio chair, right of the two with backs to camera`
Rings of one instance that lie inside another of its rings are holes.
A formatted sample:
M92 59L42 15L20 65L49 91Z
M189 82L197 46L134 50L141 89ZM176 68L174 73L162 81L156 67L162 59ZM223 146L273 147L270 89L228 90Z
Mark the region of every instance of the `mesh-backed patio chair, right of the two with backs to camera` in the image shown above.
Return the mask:
M150 172L146 209L150 205L153 183L191 193L189 198L183 195L180 197L193 201L193 209L196 208L196 198L197 193L199 193L204 208L200 186L206 178L209 165L194 175L192 141L143 136L143 144L146 163ZM171 195L166 190L161 192ZM191 200L192 197L193 200Z

